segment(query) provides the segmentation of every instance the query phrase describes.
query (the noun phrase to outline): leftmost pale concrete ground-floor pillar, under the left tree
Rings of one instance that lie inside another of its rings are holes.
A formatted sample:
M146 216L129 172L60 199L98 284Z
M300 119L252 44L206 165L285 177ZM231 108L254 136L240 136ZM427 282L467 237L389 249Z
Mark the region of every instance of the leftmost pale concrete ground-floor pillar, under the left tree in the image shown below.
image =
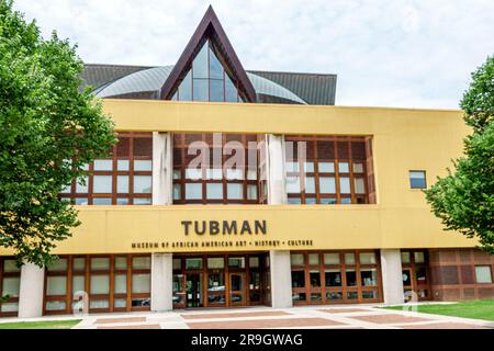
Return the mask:
M19 317L36 318L43 315L45 270L33 263L21 269L19 291Z

